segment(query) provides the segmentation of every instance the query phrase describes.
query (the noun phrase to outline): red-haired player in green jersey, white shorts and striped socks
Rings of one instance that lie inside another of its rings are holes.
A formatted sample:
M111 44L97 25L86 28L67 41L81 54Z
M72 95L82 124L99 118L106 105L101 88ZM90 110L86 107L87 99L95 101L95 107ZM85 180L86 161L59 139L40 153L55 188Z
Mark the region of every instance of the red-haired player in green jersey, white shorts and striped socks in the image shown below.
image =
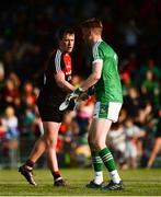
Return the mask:
M117 121L123 103L122 85L117 70L117 55L102 39L102 23L91 19L82 23L83 39L92 46L92 73L74 92L79 94L94 85L95 109L89 131L89 144L92 154L94 179L87 187L103 190L123 189L123 182L115 166L113 155L106 147L106 136L113 121ZM111 181L103 186L103 163Z

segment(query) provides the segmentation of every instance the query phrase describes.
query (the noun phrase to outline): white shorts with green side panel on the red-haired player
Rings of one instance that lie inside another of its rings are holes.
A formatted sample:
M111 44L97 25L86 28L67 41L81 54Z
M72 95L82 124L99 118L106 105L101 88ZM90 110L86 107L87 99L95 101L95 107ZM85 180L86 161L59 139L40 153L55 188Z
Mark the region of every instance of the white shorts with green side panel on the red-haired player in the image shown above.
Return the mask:
M107 104L96 102L93 118L111 119L117 121L122 108L122 103L110 102Z

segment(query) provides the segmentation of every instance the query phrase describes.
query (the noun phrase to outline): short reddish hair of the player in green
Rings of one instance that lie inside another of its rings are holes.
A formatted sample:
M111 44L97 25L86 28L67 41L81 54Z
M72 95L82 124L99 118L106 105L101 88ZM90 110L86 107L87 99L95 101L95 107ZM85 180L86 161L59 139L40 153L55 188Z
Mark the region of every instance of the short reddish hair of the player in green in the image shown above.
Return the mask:
M101 20L92 18L81 23L82 28L97 28L102 33L103 25Z

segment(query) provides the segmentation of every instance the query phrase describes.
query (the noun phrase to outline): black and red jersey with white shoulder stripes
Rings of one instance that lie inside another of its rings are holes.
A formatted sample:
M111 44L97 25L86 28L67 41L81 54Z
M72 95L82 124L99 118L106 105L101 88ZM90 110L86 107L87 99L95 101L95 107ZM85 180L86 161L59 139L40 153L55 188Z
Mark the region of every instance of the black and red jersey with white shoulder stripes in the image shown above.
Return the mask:
M57 49L53 51L44 73L44 85L38 96L39 102L61 103L66 97L67 92L60 89L55 80L55 74L59 71L65 73L66 81L71 81L71 57L68 53Z

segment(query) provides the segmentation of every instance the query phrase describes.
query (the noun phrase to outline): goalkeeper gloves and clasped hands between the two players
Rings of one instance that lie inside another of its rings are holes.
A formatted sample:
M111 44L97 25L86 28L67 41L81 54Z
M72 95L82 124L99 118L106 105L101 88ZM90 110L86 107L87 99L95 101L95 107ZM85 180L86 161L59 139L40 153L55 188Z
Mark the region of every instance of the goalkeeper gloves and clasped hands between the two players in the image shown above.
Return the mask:
M65 111L71 101L78 101L78 100L88 100L89 95L84 93L84 90L82 88L76 89L73 92L68 94L65 99L65 101L60 104L59 111Z

